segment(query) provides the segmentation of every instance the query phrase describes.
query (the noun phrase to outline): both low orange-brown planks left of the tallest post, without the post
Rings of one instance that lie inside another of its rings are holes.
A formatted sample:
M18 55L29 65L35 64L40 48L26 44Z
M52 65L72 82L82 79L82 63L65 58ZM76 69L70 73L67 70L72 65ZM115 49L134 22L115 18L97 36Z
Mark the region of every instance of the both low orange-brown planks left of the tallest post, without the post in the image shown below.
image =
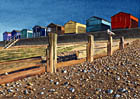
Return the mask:
M32 57L0 63L0 84L44 73L45 67L41 61L41 57Z

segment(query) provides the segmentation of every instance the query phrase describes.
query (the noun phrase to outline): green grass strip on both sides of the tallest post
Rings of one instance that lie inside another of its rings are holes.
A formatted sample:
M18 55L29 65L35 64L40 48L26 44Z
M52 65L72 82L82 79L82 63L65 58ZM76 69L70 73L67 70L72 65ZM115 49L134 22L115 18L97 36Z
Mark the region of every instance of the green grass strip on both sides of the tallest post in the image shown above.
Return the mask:
M58 53L69 52L72 51L73 48L78 46L70 46L70 47L58 47ZM9 50L0 50L0 62L10 61L10 60L18 60L23 58L30 58L36 56L45 56L46 55L46 47L34 47L34 48L15 48Z

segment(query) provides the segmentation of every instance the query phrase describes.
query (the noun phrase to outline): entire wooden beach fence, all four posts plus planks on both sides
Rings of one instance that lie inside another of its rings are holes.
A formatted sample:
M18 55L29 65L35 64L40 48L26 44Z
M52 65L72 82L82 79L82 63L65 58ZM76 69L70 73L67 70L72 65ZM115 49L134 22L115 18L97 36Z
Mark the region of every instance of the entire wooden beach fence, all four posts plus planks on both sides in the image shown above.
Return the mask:
M88 43L86 47L86 58L69 60L65 62L57 62L57 34L49 34L49 46L46 49L46 64L42 64L41 57L28 58L10 62L0 63L0 66L7 64L20 65L15 68L7 68L0 71L0 84L16 81L25 77L41 74L44 72L56 73L56 69L65 66L71 66L85 61L93 62L94 59L113 54L112 48L113 39L109 36L107 43L107 53L103 55L95 55L94 36L88 35ZM124 48L124 38L120 38L119 49ZM21 64L27 63L30 64Z

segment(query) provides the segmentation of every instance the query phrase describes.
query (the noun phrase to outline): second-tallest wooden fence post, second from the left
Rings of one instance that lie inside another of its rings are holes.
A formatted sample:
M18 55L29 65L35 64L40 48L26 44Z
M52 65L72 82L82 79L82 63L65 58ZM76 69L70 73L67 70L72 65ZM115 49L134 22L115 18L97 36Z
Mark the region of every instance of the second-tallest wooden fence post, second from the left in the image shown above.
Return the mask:
M88 44L87 44L87 57L86 61L93 62L94 60L94 36L88 36Z

